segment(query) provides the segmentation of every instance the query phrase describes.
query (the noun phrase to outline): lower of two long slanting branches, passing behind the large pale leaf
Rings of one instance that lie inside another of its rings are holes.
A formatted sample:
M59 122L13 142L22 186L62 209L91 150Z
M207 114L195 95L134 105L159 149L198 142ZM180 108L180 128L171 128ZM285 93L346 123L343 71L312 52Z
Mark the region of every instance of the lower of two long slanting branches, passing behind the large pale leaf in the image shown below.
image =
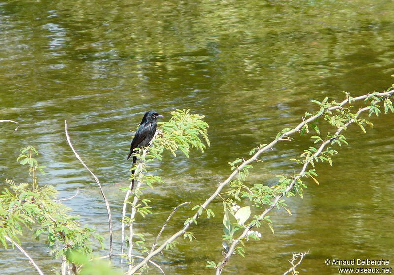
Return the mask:
M378 102L379 102L379 101L374 101L373 103L376 104L376 103L378 103ZM336 139L336 138L338 137L338 135L342 132L342 130L346 129L347 126L349 126L351 123L353 123L353 122L355 121L355 119L358 118L359 115L360 115L362 112L365 112L365 111L369 110L370 108L371 108L371 107L368 106L368 107L364 107L364 108L360 109L360 110L355 114L354 118L350 119L346 124L344 124L342 127L339 127L339 128L338 128L338 130L336 131L336 133L333 135L332 138L330 138L330 139L326 140L325 142L323 142L323 143L320 145L320 147L318 148L318 150L316 151L316 153L314 153L314 154L304 163L304 165L303 165L303 167L302 167L300 173L299 173L296 177L293 178L293 180L290 182L289 186L287 186L287 188L285 189L285 191L283 191L283 193L280 193L279 195L277 195L277 196L275 197L275 199L273 200L272 204L271 204L268 208L266 208L265 211L264 211L256 220L258 220L258 221L262 220L262 219L263 219L263 218L264 218L264 217L265 217L265 216L276 206L276 204L277 204L278 201L284 196L284 194L286 194L287 192L289 192L289 191L293 188L294 183L296 183L296 181L304 175L304 173L305 173L305 171L306 171L306 167L309 165L309 163L314 159L314 157L317 157L317 156L323 151L323 149L326 147L326 145L328 145L328 144L331 143L334 139ZM245 228L245 230L242 232L241 236L239 236L237 239L235 239L235 240L232 242L232 244L231 244L231 246L230 246L230 248L229 248L229 251L228 251L227 254L225 255L223 261L220 263L219 267L216 269L216 275L220 275L220 274L222 273L223 267L224 267L224 266L226 265L226 263L228 262L229 258L231 257L232 253L234 252L235 247L237 246L237 244L238 244L243 238L245 238L245 236L248 234L248 231L249 231L251 228L253 228L253 227L254 227L253 224L250 224L249 226L247 226L247 227Z

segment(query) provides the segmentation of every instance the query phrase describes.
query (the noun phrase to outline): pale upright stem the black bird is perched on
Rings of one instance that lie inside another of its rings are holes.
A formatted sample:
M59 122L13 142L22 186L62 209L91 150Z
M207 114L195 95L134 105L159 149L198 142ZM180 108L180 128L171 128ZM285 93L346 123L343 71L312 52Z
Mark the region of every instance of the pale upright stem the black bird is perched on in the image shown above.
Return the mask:
M142 159L145 159L146 153L148 152L148 148L144 148L142 150ZM137 203L138 203L138 191L139 188L141 188L142 182L141 182L141 177L142 177L142 169L144 167L144 162L139 161L137 167L135 168L135 174L138 175L138 177L136 178L137 180L137 184L135 186L135 191L134 191L134 199L132 201L131 204L131 214L130 214L130 224L129 224L129 249L127 252L127 260L129 261L129 268L128 271L130 271L132 269L132 261L131 261L131 253L132 253L132 249L134 248L134 244L132 243L132 239L134 237L134 218L135 218L135 214L137 214Z

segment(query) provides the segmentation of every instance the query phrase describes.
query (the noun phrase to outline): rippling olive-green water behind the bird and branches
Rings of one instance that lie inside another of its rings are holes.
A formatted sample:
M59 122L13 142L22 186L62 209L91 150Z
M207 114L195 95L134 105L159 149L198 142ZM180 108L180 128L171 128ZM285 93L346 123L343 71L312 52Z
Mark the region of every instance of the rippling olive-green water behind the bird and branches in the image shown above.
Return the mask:
M0 184L27 179L15 159L33 145L47 166L40 184L55 185L60 197L79 187L66 204L107 236L105 206L66 143L66 119L76 150L104 185L119 240L131 130L147 110L167 120L171 110L191 109L206 116L212 146L152 166L165 184L149 192L155 214L137 224L150 241L174 206L213 192L230 173L227 162L298 124L314 108L309 100L390 86L393 18L394 2L384 0L1 1L0 119L21 127L0 124ZM339 274L324 264L333 258L394 263L393 119L373 118L366 135L349 128L334 166L318 166L320 185L308 182L304 199L289 200L292 216L271 212L275 234L259 229L262 241L247 244L246 259L231 257L224 274L283 274L291 252L308 250L301 274ZM308 146L306 138L279 144L255 164L249 183L293 173L287 160ZM213 274L204 266L222 258L220 201L212 208L217 217L192 228L195 242L156 258L166 274ZM164 237L190 214L180 210ZM57 263L44 246L23 245L50 274ZM36 272L19 251L1 249L0 274Z

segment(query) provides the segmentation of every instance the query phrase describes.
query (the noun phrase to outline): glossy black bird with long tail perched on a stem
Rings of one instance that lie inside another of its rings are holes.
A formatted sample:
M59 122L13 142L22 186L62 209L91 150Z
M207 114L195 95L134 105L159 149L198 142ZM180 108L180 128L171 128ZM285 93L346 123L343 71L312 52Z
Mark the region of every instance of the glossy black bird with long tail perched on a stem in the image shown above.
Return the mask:
M156 120L158 118L163 118L162 115L159 115L155 111L148 111L145 113L144 117L142 118L141 124L137 131L135 132L135 136L131 141L130 145L130 153L127 156L127 159L130 158L132 153L136 152L135 148L143 148L149 145L153 136L156 132ZM135 162L137 161L137 157L133 156L132 158L132 166L134 166ZM131 174L134 175L134 171L131 171ZM134 180L131 181L131 190L134 188Z

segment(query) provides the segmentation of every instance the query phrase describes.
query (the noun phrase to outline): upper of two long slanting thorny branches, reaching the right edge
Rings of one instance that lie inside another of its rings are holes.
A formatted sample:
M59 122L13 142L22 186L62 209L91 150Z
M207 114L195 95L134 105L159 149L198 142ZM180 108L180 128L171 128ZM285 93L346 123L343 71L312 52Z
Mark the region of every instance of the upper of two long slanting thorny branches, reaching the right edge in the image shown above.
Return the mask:
M394 90L390 90L388 92L380 92L380 93L375 93L375 94L366 94L366 95L362 95L362 96L358 96L358 97L354 97L352 99L352 102L354 101L359 101L359 100L363 100L363 99L367 99L369 97L372 96L378 96L378 97L384 97L384 96L390 96L394 93ZM343 105L345 105L346 103L349 102L349 99L345 99L343 100L341 103L339 103L339 105L335 105L332 107L329 107L327 109L325 109L325 112L327 111L333 111L336 109L341 109ZM284 132L283 134L281 134L277 139L273 140L270 144L264 146L263 148L259 149L251 158L245 160L244 162L241 163L240 166L238 166L238 169L234 169L234 171L231 173L231 175L223 182L220 183L216 189L216 191L208 198L206 199L206 201L201 205L203 208L206 208L208 206L208 204L210 204L220 193L220 191L228 184L231 182L231 180L238 174L239 171L241 171L243 169L243 167L245 167L245 165L248 165L249 163L252 163L254 161L257 161L257 158L260 156L261 153L263 153L264 151L269 150L270 148L272 148L275 144L277 144L279 141L283 140L283 138L285 136L289 136L291 134L294 134L296 132L299 132L302 127L309 123L314 121L315 119L317 119L318 117L321 117L323 113L319 113L316 114L312 117L310 117L307 120L304 120L303 122L301 122L300 124L298 124L298 126L296 126L296 128L294 128L293 130ZM198 211L196 212L196 214L194 214L193 219L197 219L197 217L199 216ZM182 234L184 234L186 232L186 230L189 228L189 226L193 223L193 220L190 219L189 222L187 222L183 228L181 230L179 230L178 232L176 232L174 235L172 235L170 238L168 238L161 246L159 246L155 251L149 253L145 259L143 261L141 261L139 264L137 264L132 270L131 272L128 272L128 274L133 274L134 272L136 272L137 270L139 270L140 268L142 268L147 261L149 261L152 257L156 256L157 254L159 254L168 243L171 243L172 241L174 241L176 238L178 238L179 236L181 236Z

